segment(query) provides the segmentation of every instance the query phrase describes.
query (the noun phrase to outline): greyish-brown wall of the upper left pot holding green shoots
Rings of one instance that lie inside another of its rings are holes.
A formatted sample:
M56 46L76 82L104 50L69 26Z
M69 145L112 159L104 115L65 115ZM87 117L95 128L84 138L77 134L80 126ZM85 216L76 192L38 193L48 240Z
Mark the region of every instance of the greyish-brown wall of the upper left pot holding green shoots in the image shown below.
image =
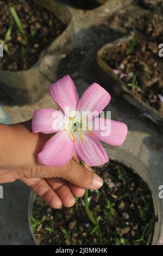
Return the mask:
M35 103L57 78L60 60L74 45L72 16L68 8L53 0L37 0L64 24L66 29L40 54L39 60L27 71L0 70L0 95L2 100L18 105Z

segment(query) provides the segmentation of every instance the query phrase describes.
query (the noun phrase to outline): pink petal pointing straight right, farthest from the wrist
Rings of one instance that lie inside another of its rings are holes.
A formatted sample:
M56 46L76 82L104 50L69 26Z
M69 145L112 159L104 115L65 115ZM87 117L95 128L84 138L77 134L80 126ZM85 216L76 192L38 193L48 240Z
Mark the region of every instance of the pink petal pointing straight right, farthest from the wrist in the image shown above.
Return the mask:
M93 136L114 146L120 146L128 132L126 124L105 118L95 118L93 126Z

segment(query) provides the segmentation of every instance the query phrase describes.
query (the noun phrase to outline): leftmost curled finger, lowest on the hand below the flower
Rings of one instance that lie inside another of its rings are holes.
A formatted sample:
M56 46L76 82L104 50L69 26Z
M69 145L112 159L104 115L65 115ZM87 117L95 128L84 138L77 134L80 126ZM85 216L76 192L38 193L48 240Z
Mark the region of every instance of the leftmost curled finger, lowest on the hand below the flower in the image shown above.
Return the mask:
M54 192L51 186L44 179L23 179L26 185L32 188L45 202L54 209L59 209L62 206L61 199Z

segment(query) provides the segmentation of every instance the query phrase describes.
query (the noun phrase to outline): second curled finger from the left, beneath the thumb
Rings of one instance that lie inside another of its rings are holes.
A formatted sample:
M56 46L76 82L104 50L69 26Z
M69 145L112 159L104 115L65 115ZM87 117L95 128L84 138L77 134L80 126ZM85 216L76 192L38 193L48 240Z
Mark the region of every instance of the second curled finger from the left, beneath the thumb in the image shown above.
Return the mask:
M66 207L71 207L75 203L74 196L67 186L66 182L61 178L46 179L47 183L53 188L59 196L62 204Z

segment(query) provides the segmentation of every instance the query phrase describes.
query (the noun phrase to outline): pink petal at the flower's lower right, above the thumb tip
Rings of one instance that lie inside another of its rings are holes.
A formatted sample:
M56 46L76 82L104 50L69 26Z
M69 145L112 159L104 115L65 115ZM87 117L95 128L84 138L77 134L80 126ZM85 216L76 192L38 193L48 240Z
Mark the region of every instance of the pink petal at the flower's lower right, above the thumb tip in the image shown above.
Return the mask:
M74 146L79 159L89 166L99 166L109 161L108 155L101 143L91 135L85 133L83 141L77 139Z

